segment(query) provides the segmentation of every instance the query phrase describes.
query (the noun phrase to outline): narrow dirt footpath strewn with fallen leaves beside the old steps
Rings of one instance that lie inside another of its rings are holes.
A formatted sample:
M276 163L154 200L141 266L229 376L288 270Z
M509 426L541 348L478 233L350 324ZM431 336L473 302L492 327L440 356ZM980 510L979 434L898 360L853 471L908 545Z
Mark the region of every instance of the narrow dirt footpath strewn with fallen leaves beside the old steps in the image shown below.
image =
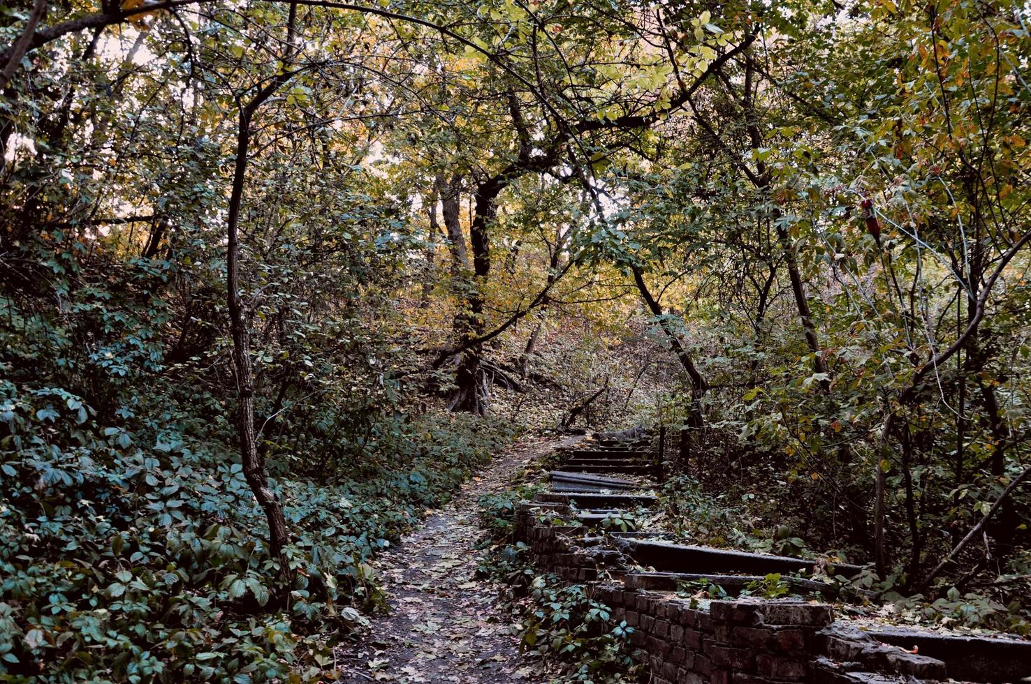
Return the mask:
M470 479L447 507L375 559L390 612L374 618L358 643L339 646L339 681L546 681L535 661L519 652L513 616L498 605L499 586L475 576L476 546L485 537L476 502L508 488L516 473L552 449L580 439L520 442Z

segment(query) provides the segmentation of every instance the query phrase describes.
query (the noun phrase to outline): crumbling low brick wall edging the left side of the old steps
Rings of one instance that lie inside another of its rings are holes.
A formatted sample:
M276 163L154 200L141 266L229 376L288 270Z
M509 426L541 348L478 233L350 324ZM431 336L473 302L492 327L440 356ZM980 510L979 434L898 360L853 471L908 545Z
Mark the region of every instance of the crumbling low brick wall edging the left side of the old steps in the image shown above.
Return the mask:
M561 524L568 506L524 504L517 538L538 568L589 584L592 597L634 628L632 643L655 684L874 684L936 682L941 660L838 629L830 606L741 598L692 603L631 588L619 553L586 546L581 527Z

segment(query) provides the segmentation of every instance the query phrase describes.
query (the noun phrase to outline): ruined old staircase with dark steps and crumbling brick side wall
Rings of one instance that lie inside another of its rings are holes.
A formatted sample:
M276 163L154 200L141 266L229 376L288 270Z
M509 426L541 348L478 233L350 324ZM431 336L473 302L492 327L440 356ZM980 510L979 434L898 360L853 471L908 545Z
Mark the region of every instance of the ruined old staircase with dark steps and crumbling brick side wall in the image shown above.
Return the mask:
M702 606L677 595L685 583L717 584L736 595L775 573L797 593L844 602L873 597L859 590L841 594L806 577L812 560L677 544L660 529L629 528L628 522L646 518L659 504L660 453L647 439L597 440L558 452L551 490L521 506L517 528L538 567L588 583L616 619L634 628L631 639L648 660L655 684L1031 677L1031 641L857 629L834 622L830 606L811 601L750 596ZM832 570L852 575L861 569L841 563Z

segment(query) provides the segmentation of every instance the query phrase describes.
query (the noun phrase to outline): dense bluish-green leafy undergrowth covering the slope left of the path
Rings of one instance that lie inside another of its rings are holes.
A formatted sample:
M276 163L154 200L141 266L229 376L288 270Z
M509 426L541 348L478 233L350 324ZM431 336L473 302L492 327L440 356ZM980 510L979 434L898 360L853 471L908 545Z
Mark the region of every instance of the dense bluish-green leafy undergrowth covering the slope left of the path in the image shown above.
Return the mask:
M384 603L370 556L512 437L383 398L356 414L346 388L282 412L261 448L292 534L287 610L232 394L165 364L163 310L131 288L80 289L63 316L0 297L0 680L318 679Z

